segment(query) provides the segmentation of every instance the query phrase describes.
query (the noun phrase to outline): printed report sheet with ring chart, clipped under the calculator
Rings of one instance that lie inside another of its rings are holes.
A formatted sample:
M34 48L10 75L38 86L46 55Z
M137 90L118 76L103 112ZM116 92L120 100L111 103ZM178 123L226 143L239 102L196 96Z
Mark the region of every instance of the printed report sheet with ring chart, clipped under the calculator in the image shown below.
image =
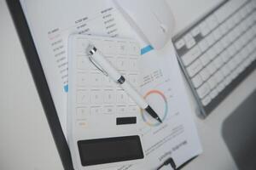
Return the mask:
M153 50L137 37L108 0L23 0L22 6L64 133L67 132L67 37L72 33L84 33L135 38L142 48L141 94L160 114L163 123L152 120L143 112L141 119L144 123L139 133L145 141L145 162L112 169L155 169L170 156L178 167L201 153L171 41L162 50Z

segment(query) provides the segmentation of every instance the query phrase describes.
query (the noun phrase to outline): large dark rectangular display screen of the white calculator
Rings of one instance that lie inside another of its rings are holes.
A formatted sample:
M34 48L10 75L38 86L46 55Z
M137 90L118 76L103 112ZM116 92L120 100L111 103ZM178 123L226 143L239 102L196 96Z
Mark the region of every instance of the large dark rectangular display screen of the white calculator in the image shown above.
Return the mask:
M78 145L83 166L144 157L139 136L79 140Z

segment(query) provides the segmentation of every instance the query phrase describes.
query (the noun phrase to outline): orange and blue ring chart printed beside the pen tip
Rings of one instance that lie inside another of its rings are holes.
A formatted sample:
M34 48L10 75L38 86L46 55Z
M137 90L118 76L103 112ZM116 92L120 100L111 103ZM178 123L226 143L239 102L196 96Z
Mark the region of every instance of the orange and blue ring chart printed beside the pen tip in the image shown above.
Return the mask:
M162 122L165 122L166 120L166 116L167 116L167 113L168 113L168 103L167 103L167 99L166 99L166 96L165 94L163 94L162 92L160 92L159 90L150 90L147 94L144 95L144 99L147 99L148 97L150 97L151 95L156 95L158 97L160 97L164 103L164 109L162 110L162 114L160 114L160 119L162 120ZM146 117L145 114L148 115L148 113L146 113L145 111L141 110L141 113L142 113L142 116L143 116L143 122L145 122L146 124L148 124L148 126L150 127L155 127L155 126L158 126L160 125L161 123L160 122L157 122L157 121L149 121L149 118ZM151 118L153 119L153 118Z

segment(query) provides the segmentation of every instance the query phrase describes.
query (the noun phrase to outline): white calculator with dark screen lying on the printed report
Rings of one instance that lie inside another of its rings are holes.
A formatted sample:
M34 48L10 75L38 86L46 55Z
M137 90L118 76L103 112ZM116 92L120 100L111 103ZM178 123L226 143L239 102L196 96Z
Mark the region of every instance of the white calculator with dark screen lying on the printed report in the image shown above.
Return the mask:
M130 39L72 35L68 45L67 140L75 169L142 161L140 109L119 85L91 63L89 43L131 84L139 85L140 48Z

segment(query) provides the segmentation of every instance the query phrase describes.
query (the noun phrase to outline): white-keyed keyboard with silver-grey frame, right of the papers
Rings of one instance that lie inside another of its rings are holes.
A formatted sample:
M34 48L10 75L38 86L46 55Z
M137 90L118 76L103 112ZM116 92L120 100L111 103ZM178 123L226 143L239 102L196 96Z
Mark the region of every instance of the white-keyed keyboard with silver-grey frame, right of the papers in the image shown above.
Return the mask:
M224 1L173 38L202 116L256 68L256 1Z

